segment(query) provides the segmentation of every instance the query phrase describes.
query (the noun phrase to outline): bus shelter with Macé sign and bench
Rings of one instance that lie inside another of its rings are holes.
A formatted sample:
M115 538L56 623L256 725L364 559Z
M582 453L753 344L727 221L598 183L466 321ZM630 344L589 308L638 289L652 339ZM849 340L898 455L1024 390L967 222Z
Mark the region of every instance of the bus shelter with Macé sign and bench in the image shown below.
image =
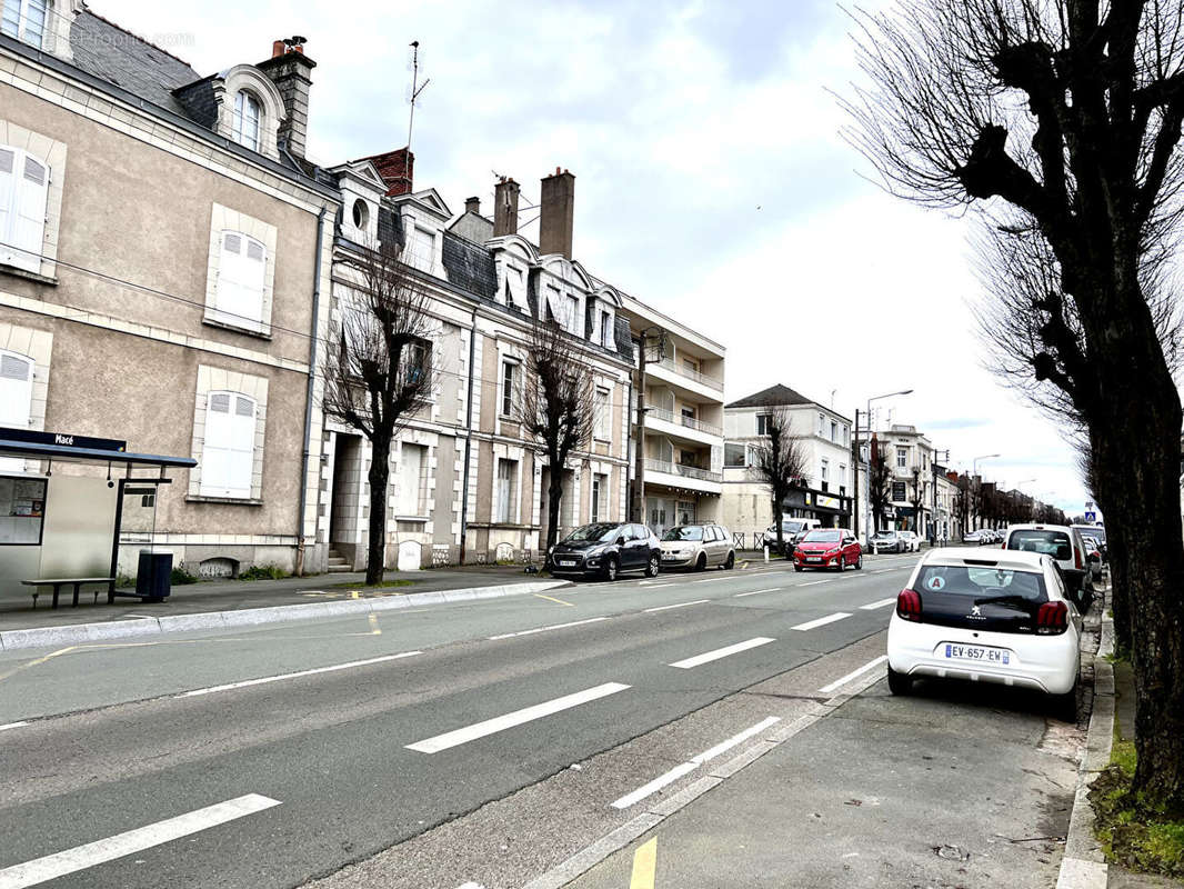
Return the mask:
M112 439L0 428L0 601L28 602L40 578L107 578L114 601L121 539L152 548L160 486L194 466Z

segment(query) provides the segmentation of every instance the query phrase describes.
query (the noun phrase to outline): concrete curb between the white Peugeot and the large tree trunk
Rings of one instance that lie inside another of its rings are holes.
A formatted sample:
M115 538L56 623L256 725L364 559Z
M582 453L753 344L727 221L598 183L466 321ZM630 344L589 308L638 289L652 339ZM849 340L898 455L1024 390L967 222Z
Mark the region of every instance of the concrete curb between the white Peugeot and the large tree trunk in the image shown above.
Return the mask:
M1102 606L1103 607L1103 606ZM1094 810L1087 794L1098 773L1109 765L1114 741L1114 666L1106 659L1114 653L1114 620L1102 612L1101 641L1094 654L1094 709L1089 716L1086 750L1077 769L1073 814L1064 838L1064 857L1056 889L1106 889L1109 866L1094 838Z

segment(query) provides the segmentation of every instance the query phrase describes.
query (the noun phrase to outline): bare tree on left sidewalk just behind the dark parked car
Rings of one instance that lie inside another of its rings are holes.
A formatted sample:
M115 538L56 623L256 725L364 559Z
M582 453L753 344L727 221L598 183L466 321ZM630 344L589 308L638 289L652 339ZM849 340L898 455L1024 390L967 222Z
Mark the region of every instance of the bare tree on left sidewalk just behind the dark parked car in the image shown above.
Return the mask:
M540 306L539 312L543 311L545 307ZM546 541L549 558L559 535L564 466L571 453L586 446L592 437L596 388L592 370L577 340L554 320L535 319L527 347L526 379L517 399L517 418L523 436L540 443L551 466Z

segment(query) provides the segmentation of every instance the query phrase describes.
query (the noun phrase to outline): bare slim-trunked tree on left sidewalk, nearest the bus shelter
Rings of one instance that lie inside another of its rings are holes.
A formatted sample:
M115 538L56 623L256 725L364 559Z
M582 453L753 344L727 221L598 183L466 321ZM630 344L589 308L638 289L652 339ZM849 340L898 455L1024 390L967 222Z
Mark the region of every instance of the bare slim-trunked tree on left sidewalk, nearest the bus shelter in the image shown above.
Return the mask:
M353 283L330 340L322 407L371 443L366 583L386 569L386 504L394 436L427 405L435 375L429 295L394 244L368 245L349 263Z

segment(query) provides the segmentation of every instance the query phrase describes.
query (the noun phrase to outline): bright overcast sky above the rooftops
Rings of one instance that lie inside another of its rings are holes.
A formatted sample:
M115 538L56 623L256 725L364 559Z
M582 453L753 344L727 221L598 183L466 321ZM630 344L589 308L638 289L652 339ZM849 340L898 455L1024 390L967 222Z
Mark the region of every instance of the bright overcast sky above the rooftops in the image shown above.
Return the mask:
M824 0L91 0L208 75L308 38L309 156L407 141L407 44L431 83L416 186L449 206L494 173L575 183L574 255L598 277L728 348L727 398L784 383L854 417L913 423L951 465L1077 512L1058 430L1003 390L973 332L965 224L894 199L839 137L829 89L856 77L849 21ZM522 219L534 213L526 210ZM523 228L532 239L538 223ZM890 408L892 415L888 416Z

